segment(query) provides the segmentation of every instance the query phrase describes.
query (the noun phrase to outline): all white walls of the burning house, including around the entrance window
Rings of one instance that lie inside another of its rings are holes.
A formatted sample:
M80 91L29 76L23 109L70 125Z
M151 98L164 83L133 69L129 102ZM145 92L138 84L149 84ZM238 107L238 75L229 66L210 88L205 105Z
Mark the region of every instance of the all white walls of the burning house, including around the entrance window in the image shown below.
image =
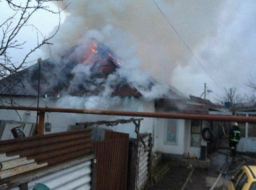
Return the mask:
M36 98L31 97L14 97L14 101L24 106L36 107ZM127 111L138 111L138 112L155 112L154 101L144 101L143 99L126 98L119 105L115 105L110 110L127 110ZM46 102L44 98L40 99L40 107L45 107ZM48 107L59 107L58 100L48 100ZM22 121L36 122L36 112L28 111L17 111ZM47 119L47 115L49 119ZM116 120L116 119L130 119L131 117L124 116L104 116L104 115L85 115L85 114L70 114L70 113L46 113L45 122L52 124L53 132L62 132L68 129L69 125L75 125L79 122L92 122L98 120ZM1 110L0 109L0 120L16 120L20 121L15 110ZM170 124L176 125L176 142L167 142L167 127ZM98 126L97 129L104 128L113 131L129 133L130 137L136 138L135 125L133 123L119 124L117 126ZM200 147L190 146L190 121L189 120L176 120L176 119L156 119L156 118L144 118L141 121L140 133L152 133L153 134L153 151L161 151L170 154L179 154L200 157ZM47 134L47 132L45 132ZM98 139L102 139L99 136Z

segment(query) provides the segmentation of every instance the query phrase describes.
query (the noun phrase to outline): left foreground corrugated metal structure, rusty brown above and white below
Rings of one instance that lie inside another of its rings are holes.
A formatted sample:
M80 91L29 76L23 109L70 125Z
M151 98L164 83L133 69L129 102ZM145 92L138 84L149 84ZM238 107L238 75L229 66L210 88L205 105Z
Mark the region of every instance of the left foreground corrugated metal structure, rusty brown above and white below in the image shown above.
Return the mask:
M0 141L0 189L91 189L91 130Z

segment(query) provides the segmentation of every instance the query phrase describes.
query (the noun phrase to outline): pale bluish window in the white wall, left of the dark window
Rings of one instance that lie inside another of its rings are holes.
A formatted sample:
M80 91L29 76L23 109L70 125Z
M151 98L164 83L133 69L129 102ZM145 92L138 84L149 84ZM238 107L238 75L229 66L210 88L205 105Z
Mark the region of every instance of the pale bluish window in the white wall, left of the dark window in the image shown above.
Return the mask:
M166 125L166 143L177 145L177 120L168 119Z

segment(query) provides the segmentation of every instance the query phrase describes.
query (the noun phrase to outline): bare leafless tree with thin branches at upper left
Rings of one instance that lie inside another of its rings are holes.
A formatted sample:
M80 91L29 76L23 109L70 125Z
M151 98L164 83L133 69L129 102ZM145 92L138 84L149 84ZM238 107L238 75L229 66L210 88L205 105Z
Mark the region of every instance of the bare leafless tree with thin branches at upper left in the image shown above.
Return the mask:
M7 3L12 10L10 17L0 23L0 85L7 89L10 96L10 104L14 105L12 101L12 91L9 87L9 83L13 83L14 80L17 85L24 87L22 81L18 78L18 73L23 70L28 61L28 57L37 49L41 48L43 45L51 45L49 42L59 30L60 26L60 12L63 10L53 11L49 6L51 1L62 1L62 0L25 0L24 2L18 4L16 0L0 0L0 3ZM32 15L39 10L47 11L52 14L56 14L59 17L59 24L54 33L50 36L44 36L34 25L28 23ZM21 29L26 26L31 26L35 29L37 36L37 43L34 47L29 47L30 50L23 56L20 62L14 62L10 51L13 49L22 49L26 47L26 41L20 41L18 39L18 34ZM12 77L8 77L12 75ZM15 83L15 84L16 84ZM0 98L0 104L4 104L3 100Z

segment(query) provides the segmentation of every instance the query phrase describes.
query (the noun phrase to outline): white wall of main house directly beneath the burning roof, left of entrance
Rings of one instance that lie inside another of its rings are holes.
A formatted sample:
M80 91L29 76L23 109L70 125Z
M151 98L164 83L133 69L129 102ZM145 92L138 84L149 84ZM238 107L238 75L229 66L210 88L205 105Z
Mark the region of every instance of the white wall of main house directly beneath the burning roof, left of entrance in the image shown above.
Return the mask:
M1 98L1 97L0 97ZM23 106L37 106L37 98L31 97L13 97L13 100L18 105ZM39 107L46 106L46 99L40 98ZM47 107L59 107L59 100L49 99ZM144 101L137 98L125 98L119 105L110 107L110 110L125 110L125 111L138 111L138 112L155 112L154 101ZM0 120L15 120L36 123L36 112L17 110L4 110L0 109ZM48 119L47 119L48 115ZM45 122L52 124L53 132L63 132L68 129L69 125L75 125L79 122L93 122L99 120L116 120L116 119L130 119L131 117L125 116L107 116L107 115L86 115L86 114L73 114L73 113L46 113ZM144 118L141 121L140 132L153 133L153 118ZM136 138L135 125L133 123L119 124L114 127L99 126L100 128L111 129L113 131L129 133L130 137ZM47 132L45 132L47 134Z

